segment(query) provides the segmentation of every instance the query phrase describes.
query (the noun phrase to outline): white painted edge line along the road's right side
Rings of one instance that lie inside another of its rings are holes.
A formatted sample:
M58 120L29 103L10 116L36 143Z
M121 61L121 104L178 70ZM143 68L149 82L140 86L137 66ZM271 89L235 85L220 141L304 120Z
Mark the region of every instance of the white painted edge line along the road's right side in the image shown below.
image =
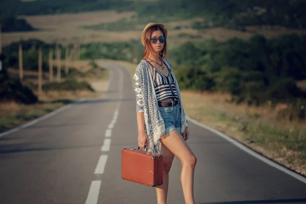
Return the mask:
M227 135L225 135L225 134L223 134L223 133L221 133L221 132L219 132L219 131L213 129L212 127L209 127L209 126L207 126L207 125L205 125L205 124L202 124L202 123L200 123L200 122L198 122L198 121L196 121L196 120L190 118L189 116L186 116L186 118L188 119L188 121L191 121L191 122L193 122L194 124L197 124L197 125L199 125L200 127L203 127L204 129L207 129L207 130L209 130L209 131L211 131L211 132L217 134L218 136L220 136L220 137L226 139L227 141L231 142L232 144L234 144L234 145L237 146L238 148L240 148L240 149L242 149L243 151L245 151L245 152L247 152L248 154L250 154L251 156L256 157L257 159L259 159L259 160L265 162L266 164L268 164L268 165L270 165L270 166L272 166L272 167L274 167L274 168L276 168L276 169L278 169L278 170L281 170L281 171L287 173L288 175L291 175L291 176L294 177L295 179L297 179L297 180L299 180L299 181L301 181L301 182L303 182L303 183L306 184L306 177L304 177L304 176L302 176L302 175L300 175L300 174L298 174L298 173L296 173L296 172L294 172L294 171L292 171L292 170L289 170L289 169L287 169L286 167L284 167L284 166L282 166L282 165L280 165L280 164L278 164L278 163L276 163L276 162L271 161L270 159L267 159L266 157L260 155L258 152L256 152L256 151L250 149L249 147L246 147L244 144L238 142L237 140L231 138L230 136L227 136Z

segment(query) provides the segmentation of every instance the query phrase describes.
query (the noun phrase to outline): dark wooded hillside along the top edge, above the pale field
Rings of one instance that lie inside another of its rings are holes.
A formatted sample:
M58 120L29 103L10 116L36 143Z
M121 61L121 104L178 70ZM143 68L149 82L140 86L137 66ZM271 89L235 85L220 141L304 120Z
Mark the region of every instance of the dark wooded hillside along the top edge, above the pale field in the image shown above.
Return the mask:
M281 25L291 29L306 28L306 1L278 0L167 0L138 1L125 0L53 0L20 2L4 0L0 2L0 16L15 18L19 15L44 15L59 13L79 13L97 10L136 11L138 17L147 18L179 17L181 19L203 17L193 23L195 29L225 27L245 31L248 25ZM12 27L17 25L12 24ZM28 27L24 25L23 30ZM21 29L20 28L20 29ZM11 29L12 30L12 29ZM14 29L18 30L18 29ZM9 32L8 30L7 32ZM6 30L5 30L6 32Z

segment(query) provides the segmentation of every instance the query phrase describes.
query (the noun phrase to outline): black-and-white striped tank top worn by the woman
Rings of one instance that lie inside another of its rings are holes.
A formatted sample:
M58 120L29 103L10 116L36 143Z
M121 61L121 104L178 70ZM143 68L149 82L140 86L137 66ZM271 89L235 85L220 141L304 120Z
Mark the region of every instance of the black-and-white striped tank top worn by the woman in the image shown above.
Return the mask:
M152 64L149 63L151 66ZM156 97L158 101L164 100L166 98L176 98L176 100L179 100L179 96L177 96L177 92L175 89L175 77L174 74L169 70L169 74L166 77L164 74L162 74L158 69L153 67L153 82L154 82L154 89L156 93Z

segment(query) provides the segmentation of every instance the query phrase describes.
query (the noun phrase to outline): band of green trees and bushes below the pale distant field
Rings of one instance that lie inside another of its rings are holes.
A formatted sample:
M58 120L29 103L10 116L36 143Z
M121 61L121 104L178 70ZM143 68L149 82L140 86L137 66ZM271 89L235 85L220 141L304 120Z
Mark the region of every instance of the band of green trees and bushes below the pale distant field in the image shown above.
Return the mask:
M24 68L32 70L37 70L37 47L42 46L44 52L54 47L39 40L23 41L22 46L23 60L29 63ZM94 42L81 47L81 60L130 62L135 58L140 62L144 49L139 40ZM238 104L287 103L301 111L301 107L306 107L306 90L299 88L297 82L306 80L304 53L306 36L293 34L267 39L254 35L249 40L186 42L170 48L168 60L182 90L230 93L232 101ZM18 43L5 46L3 56L4 67L17 68ZM43 70L47 70L47 60L43 59Z

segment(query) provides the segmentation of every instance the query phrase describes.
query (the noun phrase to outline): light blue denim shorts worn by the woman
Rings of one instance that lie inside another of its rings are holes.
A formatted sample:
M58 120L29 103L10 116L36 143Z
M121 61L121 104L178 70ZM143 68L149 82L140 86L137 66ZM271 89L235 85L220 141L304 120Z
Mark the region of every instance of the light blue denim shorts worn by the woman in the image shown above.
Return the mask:
M166 133L177 130L181 132L181 109L180 104L173 107L159 107L165 121Z

